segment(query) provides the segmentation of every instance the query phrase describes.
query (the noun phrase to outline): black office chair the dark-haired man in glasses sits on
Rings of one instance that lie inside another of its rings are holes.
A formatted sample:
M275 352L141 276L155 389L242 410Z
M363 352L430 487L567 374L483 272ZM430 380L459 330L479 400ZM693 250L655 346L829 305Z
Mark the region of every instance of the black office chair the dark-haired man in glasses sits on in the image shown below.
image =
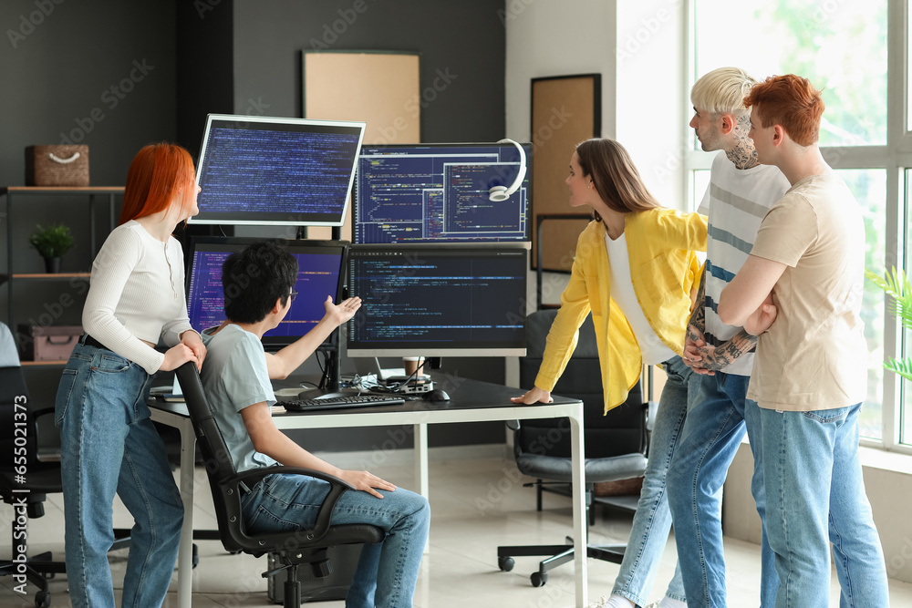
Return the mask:
M285 608L299 608L301 585L297 578L300 564L310 565L316 578L325 578L332 572L326 550L336 545L379 542L386 536L376 526L353 524L333 526L330 523L332 511L342 493L354 487L342 479L316 470L297 467L265 467L238 473L228 453L222 431L219 429L212 407L202 390L200 376L192 363L179 367L177 376L183 389L183 397L190 410L193 429L202 452L202 459L212 488L215 515L219 522L219 534L227 551L250 553L259 557L264 553L278 555L282 565L269 572L264 578L287 570L285 581ZM260 479L273 474L306 475L329 482L331 488L313 528L302 528L294 532L273 532L248 534L244 530L241 514L241 493L243 486L251 487Z

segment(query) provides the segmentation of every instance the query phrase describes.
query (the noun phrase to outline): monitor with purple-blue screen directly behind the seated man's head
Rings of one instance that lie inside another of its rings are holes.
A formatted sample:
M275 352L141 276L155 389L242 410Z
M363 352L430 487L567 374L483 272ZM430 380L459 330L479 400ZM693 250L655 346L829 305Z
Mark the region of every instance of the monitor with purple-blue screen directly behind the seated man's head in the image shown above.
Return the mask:
M222 264L233 252L262 239L248 237L194 237L187 273L187 312L193 329L220 325L224 319ZM267 348L288 345L305 335L323 318L327 295L339 302L345 281L348 243L342 241L276 241L297 260L298 296L285 319L263 335ZM334 333L324 345L336 345Z

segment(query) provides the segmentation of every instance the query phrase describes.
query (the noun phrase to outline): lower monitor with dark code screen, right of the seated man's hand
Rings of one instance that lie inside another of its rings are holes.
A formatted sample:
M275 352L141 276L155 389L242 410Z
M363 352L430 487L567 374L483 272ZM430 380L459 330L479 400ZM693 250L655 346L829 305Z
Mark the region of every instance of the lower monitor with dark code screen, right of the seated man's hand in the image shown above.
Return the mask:
M523 356L528 250L352 245L348 356Z

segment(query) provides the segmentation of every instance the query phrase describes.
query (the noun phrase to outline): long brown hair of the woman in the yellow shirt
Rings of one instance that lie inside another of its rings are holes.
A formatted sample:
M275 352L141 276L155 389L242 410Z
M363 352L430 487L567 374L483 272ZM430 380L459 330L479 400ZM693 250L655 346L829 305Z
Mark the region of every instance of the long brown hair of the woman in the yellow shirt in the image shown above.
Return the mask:
M586 139L576 146L576 157L609 209L628 213L662 206L639 177L627 149L614 139ZM596 211L593 214L602 221Z

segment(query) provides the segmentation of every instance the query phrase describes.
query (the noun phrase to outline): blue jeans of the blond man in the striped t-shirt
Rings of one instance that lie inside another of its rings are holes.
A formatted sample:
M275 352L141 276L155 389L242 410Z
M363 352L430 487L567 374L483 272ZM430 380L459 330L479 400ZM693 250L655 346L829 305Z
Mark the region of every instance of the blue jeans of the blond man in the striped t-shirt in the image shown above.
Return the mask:
M765 520L760 407L747 399L750 376L716 372L697 376L687 423L668 469L668 502L688 607L724 608L725 556L722 551L721 489L731 460L747 430L753 452L751 493ZM772 608L779 587L773 553L762 526L760 605Z

